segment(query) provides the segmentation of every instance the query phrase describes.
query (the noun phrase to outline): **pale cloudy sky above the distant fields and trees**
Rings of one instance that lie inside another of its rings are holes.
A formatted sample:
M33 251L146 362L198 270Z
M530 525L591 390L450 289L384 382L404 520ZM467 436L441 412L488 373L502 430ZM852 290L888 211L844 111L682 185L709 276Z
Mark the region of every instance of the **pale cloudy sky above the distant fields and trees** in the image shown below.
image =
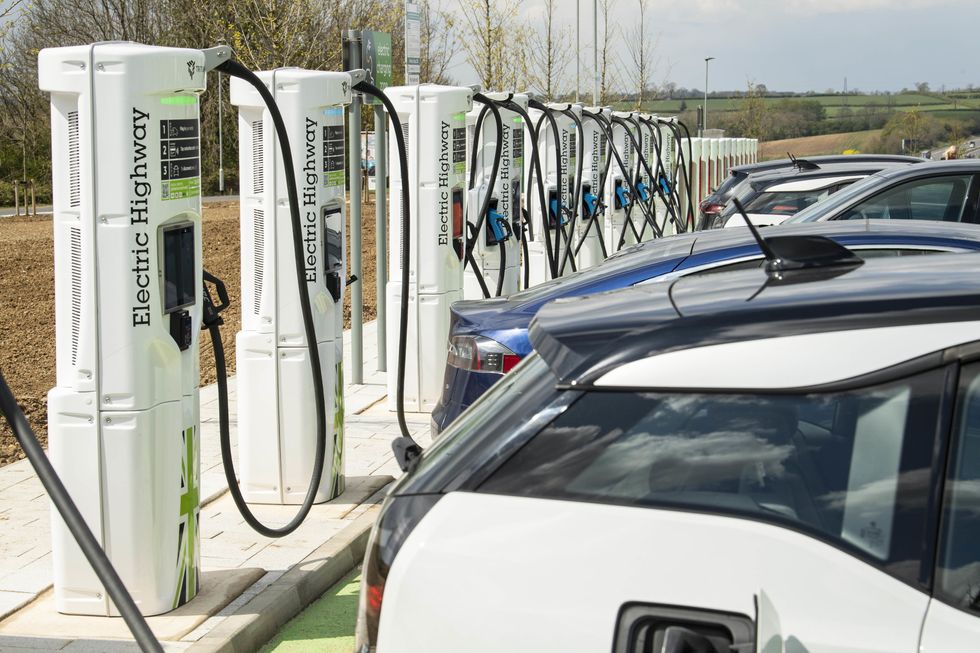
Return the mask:
M592 0L581 1L582 74L592 60ZM928 82L980 87L980 0L649 0L657 39L658 82L709 90L898 91ZM459 0L442 0L455 9ZM564 24L574 30L576 0L557 0ZM613 0L620 32L634 30L638 0ZM541 0L524 0L522 19L543 21ZM622 45L622 38L620 38ZM627 60L619 48L620 60ZM477 83L472 68L457 63L462 84ZM589 63L587 63L589 62ZM623 66L625 68L625 66ZM574 77L574 66L571 67ZM592 88L582 80L582 91Z

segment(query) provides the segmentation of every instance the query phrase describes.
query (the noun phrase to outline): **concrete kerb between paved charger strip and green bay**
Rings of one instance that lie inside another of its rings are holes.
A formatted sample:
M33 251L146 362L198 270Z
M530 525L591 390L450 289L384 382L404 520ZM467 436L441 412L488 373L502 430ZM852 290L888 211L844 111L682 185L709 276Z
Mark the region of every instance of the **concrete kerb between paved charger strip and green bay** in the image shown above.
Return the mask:
M388 486L369 501L377 501ZM381 509L378 503L331 537L235 614L199 639L187 653L252 653L268 642L364 559L367 540Z

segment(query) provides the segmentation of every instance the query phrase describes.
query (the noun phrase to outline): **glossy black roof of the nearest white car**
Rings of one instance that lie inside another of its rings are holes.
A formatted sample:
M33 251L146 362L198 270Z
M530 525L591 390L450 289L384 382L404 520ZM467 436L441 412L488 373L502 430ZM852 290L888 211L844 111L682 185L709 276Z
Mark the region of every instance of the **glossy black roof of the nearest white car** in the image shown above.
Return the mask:
M978 321L978 265L980 253L968 253L872 259L779 276L746 270L683 277L552 302L538 312L529 335L560 383L587 387L620 366L664 353ZM974 329L970 339L980 339L980 332Z

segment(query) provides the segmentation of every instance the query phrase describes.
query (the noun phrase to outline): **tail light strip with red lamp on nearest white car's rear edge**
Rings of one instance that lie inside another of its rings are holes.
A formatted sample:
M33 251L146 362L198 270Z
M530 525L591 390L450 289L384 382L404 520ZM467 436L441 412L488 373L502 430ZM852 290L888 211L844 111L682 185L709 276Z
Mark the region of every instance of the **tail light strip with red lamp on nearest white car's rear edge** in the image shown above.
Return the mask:
M441 494L389 496L371 529L358 599L354 650L372 653L378 646L378 627L384 603L385 583L395 556L423 517L442 498Z

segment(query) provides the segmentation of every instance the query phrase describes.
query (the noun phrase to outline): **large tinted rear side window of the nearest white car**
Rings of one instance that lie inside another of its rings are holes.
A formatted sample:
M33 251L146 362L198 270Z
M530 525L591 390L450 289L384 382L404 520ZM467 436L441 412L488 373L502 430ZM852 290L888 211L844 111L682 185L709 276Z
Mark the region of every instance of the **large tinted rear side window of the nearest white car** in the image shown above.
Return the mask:
M774 522L917 583L943 379L795 395L587 392L480 491Z

